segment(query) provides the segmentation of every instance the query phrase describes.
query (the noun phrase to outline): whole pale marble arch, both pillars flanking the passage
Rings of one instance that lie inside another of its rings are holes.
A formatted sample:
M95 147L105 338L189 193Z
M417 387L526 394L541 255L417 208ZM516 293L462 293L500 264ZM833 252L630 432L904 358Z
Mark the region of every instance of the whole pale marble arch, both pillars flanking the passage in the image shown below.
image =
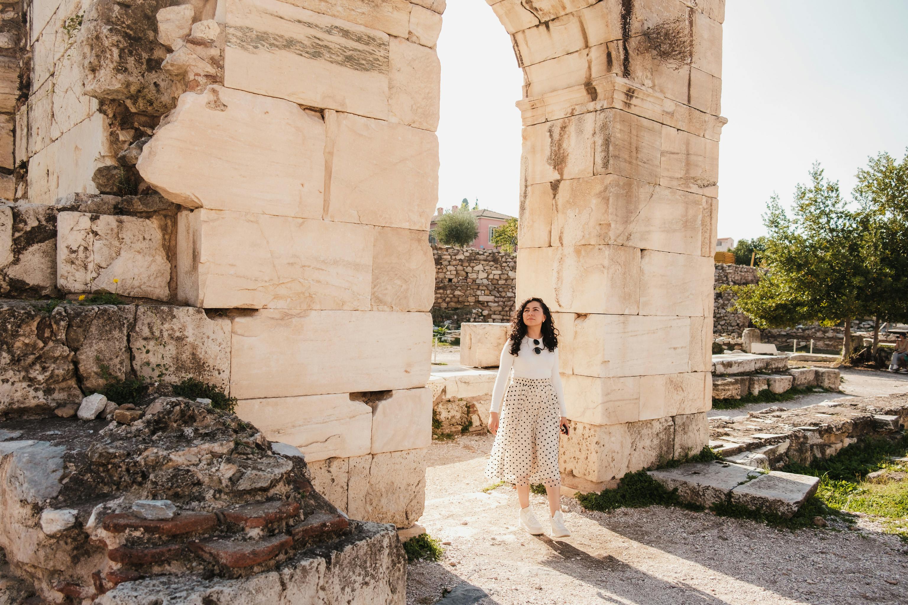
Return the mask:
M525 73L518 298L558 313L562 471L594 489L706 444L724 3L489 4ZM351 516L408 526L430 440L445 2L222 6L222 73L187 68L195 93L138 164L187 209L179 297L248 309L229 313L240 414L301 446ZM677 69L649 44L659 25L697 43Z

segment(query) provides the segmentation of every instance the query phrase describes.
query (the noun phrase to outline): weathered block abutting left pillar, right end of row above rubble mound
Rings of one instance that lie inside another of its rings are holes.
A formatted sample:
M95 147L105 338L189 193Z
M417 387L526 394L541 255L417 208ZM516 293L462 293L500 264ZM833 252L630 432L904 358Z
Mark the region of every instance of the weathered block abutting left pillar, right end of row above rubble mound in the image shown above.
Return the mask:
M168 383L192 377L230 394L227 317L209 318L201 308L142 305L136 307L129 346L140 376Z

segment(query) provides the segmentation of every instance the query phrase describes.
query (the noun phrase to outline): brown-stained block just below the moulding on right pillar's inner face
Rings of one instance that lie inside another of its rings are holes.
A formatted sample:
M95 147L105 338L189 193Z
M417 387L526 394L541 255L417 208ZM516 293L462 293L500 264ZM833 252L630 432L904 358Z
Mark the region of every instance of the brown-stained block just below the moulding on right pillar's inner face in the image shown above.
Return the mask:
M593 176L596 122L595 113L583 113L524 128L521 181L532 185Z

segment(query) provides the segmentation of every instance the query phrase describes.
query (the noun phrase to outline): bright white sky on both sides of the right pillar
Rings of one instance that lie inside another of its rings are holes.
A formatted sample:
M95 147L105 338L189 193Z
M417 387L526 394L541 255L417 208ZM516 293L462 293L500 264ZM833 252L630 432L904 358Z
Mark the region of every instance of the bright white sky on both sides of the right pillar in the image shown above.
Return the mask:
M867 156L908 146L908 0L728 0L719 237L753 238L777 192L820 161L854 187ZM439 38L439 205L518 214L523 75L482 0L451 0Z

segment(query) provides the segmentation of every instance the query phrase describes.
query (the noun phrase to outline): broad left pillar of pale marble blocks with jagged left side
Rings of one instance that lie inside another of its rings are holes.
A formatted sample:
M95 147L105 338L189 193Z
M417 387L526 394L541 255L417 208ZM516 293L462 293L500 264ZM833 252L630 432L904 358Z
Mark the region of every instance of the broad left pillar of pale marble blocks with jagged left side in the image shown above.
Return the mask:
M431 440L443 7L219 1L222 72L173 44L192 92L138 162L185 209L180 300L242 309L238 414L299 447L350 517L399 527L422 513Z

